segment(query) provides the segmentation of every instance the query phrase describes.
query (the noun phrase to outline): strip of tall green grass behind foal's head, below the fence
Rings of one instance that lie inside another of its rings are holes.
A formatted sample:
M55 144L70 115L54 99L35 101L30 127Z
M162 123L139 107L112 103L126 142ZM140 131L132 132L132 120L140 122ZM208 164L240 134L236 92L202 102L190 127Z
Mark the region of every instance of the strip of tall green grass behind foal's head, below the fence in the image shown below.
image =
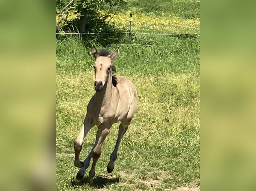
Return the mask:
M132 40L136 44L152 46L133 46L129 44L110 44L114 51L120 47L120 55L115 63L123 75L140 72L143 75L162 75L165 73L195 72L199 75L199 38L177 38L166 36L140 35ZM91 42L92 45L97 46ZM98 49L103 48L101 45ZM81 38L69 37L56 43L56 69L58 73L78 74L92 69L91 49L84 46Z

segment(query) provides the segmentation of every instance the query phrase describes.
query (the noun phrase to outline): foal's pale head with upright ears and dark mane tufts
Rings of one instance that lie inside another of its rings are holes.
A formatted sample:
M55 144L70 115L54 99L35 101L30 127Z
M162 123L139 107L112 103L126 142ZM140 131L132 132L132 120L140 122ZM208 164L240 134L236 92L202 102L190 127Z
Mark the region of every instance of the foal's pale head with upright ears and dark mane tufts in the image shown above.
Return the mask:
M98 53L95 47L92 48L92 54L95 58L94 64L94 71L95 71L95 82L94 88L96 91L101 91L103 86L109 79L109 75L112 76L113 73L116 71L115 66L112 66L112 62L114 61L115 57L118 55L119 48L116 49L113 53L109 53L108 50L101 50ZM116 78L112 76L113 85L116 86Z

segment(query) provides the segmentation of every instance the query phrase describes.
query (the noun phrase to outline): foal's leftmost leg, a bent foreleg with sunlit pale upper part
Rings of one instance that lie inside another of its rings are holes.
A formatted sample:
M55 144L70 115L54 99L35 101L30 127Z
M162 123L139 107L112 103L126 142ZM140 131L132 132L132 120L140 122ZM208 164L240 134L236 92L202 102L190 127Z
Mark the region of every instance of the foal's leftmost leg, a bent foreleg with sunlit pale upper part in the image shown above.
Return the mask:
M75 148L74 165L76 167L82 168L84 166L84 163L82 161L80 161L79 156L80 156L80 152L81 152L82 145L83 145L83 139L93 126L94 126L93 118L90 118L88 115L86 115L84 124L79 132L79 135L77 136L76 140L74 141L74 148Z

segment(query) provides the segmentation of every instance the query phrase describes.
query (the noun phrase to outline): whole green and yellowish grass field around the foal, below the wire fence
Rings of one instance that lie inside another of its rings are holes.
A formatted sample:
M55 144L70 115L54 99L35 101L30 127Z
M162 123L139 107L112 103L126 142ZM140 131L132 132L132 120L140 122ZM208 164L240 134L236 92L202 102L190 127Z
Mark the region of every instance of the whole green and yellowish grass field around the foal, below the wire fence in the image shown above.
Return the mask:
M56 40L56 190L171 190L200 185L200 39L136 35L132 42L152 46L115 43L107 48L114 51L120 46L116 75L134 83L137 112L121 141L115 169L108 174L119 123L112 126L91 187L86 183L91 165L85 178L76 180L73 143L95 93L94 59L80 37ZM81 160L89 154L96 132L95 126L85 137Z

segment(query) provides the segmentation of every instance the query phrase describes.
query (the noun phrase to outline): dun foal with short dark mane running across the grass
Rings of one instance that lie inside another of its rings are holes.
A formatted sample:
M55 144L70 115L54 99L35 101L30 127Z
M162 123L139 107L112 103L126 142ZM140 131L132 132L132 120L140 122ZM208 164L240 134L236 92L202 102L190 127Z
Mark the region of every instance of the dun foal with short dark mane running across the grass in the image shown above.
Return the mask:
M101 50L98 53L95 47L92 48L92 55L95 58L94 88L96 93L87 106L84 124L74 142L76 154L74 165L81 168L77 173L77 180L81 180L84 177L91 158L93 158L92 168L88 177L89 184L93 184L95 166L101 155L101 147L112 124L121 121L117 142L107 167L108 173L113 171L120 141L131 123L137 106L137 91L132 82L125 78L112 76L115 72L115 67L112 63L118 53L119 48L111 54L107 50ZM82 162L79 159L79 155L83 139L94 125L98 127L96 141L88 157Z

